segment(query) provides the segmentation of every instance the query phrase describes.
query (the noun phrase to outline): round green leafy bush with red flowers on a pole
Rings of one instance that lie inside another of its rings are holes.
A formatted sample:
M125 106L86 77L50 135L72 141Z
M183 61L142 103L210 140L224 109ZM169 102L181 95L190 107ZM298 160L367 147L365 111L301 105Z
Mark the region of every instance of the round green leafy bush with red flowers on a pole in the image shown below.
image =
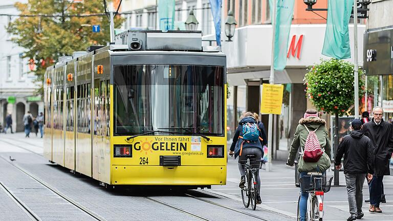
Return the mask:
M306 96L320 111L339 116L354 104L354 65L337 59L322 60L307 69ZM363 72L359 71L359 97L364 93Z

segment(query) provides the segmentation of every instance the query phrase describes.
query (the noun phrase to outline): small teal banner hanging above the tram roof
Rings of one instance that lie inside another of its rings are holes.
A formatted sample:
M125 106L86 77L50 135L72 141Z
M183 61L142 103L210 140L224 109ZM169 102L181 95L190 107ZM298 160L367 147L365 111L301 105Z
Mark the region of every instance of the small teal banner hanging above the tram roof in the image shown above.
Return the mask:
M160 30L168 31L174 28L174 1L175 0L159 0L158 16L160 19Z

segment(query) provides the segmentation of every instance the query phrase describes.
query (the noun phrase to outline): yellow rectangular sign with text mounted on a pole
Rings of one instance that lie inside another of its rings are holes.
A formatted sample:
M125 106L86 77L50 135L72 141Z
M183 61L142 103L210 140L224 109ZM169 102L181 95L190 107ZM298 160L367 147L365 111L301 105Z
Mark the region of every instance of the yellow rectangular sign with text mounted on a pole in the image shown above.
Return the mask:
M283 92L284 85L282 84L263 84L260 113L280 115Z

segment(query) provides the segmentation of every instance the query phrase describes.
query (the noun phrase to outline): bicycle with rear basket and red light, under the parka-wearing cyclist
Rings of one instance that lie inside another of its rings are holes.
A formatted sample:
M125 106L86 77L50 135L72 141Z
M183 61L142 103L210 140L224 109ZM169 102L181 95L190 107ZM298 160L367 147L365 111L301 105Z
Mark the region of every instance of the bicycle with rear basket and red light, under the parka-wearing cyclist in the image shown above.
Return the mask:
M302 192L311 193L307 200L307 213L305 220L322 221L323 220L323 196L329 192L332 186L333 175L323 175L320 172L308 172L299 179ZM300 220L300 195L297 201L297 221Z

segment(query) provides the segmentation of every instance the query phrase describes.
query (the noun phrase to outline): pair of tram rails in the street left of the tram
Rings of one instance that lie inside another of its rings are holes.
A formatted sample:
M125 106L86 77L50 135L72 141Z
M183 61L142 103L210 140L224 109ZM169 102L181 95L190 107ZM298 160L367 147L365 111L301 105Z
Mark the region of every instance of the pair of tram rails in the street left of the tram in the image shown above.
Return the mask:
M4 158L3 156L0 156L0 158L2 158L4 161L6 161L7 163L11 164L12 166L14 166L15 168L17 168L19 171L25 173L26 175L28 175L30 178L32 178L33 180L35 180L36 182L38 182L39 184L41 184L42 186L46 187L47 189L51 190L53 193L55 193L56 195L60 196L63 200L67 201L68 203L72 204L73 206L77 207L79 210L81 210L82 212L90 215L92 218L99 220L99 221L107 221L105 218L101 217L100 215L96 214L95 212L91 211L90 209L84 207L83 205L77 203L76 201L72 200L72 198L68 197L67 195L63 194L62 192L58 191L57 189L53 188L52 186L50 186L49 184L43 182L42 180L40 180L39 178L37 178L35 175L33 175L32 173L30 173L29 171L25 170L24 168L20 167L19 165L15 164L15 163L11 163L9 162L9 160L7 160L6 158ZM0 183L1 184L1 183ZM3 186L3 184L1 184L1 186L3 188L5 188L5 186ZM0 187L1 188L1 187ZM6 192L8 192L9 194L12 194L11 191L9 191L8 189L5 189ZM12 194L13 195L13 194ZM12 196L11 195L11 196ZM14 200L16 200L16 196L13 197ZM23 204L23 202L21 202L20 200L16 200L18 203ZM21 205L19 204L19 205ZM28 207L26 207L28 208ZM25 209L26 209L25 208ZM29 212L30 213L30 212ZM38 216L36 216L38 219L33 219L33 220L41 220L39 219Z

